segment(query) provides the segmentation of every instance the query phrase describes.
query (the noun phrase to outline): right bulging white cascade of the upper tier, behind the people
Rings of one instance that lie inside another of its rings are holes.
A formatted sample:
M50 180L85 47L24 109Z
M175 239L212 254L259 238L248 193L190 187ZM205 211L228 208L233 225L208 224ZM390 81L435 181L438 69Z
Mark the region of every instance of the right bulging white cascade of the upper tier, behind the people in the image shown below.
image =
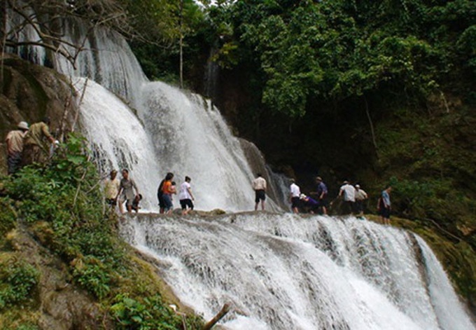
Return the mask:
M146 83L139 118L154 142L162 172L192 178L200 209L253 209L253 173L239 140L216 107L165 83ZM270 209L279 207L269 201Z

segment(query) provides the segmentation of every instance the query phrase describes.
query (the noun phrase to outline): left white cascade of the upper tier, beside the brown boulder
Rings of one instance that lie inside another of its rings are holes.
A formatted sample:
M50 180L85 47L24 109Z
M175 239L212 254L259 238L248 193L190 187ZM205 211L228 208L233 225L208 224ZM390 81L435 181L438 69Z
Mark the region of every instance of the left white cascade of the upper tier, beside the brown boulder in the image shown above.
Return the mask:
M116 95L85 78L74 83L78 93L84 92L81 124L91 144L100 172L127 167L133 174L144 198L142 207L153 209L153 196L160 181L158 163L151 161L153 144L143 125ZM149 183L149 184L147 184Z

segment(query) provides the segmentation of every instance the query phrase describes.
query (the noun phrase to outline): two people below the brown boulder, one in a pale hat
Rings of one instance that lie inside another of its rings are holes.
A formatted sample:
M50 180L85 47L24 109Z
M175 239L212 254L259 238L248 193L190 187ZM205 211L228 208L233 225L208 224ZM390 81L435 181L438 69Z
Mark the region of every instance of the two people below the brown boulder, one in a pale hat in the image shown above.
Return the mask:
M30 127L27 122L20 121L16 130L8 132L5 139L8 174L14 174L32 163L44 163L52 156L54 146L59 142L52 137L48 125L48 117Z

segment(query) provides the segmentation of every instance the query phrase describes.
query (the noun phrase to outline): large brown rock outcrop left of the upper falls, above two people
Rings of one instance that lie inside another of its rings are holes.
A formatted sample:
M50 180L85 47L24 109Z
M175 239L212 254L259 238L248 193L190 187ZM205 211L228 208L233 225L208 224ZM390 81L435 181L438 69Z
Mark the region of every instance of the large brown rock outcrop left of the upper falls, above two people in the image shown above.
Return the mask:
M0 74L0 173L6 173L5 137L18 122L36 123L51 118L55 137L71 131L78 107L76 91L69 79L53 69L41 67L15 55L3 55Z

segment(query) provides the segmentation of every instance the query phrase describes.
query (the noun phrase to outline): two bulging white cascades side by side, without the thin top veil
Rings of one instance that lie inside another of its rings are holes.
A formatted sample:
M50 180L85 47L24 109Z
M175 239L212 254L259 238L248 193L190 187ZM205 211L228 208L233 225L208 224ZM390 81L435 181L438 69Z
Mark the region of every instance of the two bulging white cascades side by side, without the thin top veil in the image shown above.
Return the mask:
M78 93L83 83L76 84ZM140 99L141 121L118 97L87 82L80 118L102 172L128 168L145 209L157 208L155 195L166 172L176 174L177 184L186 175L192 178L199 209L253 208L253 173L238 140L209 101L164 83L144 83ZM272 201L268 207L277 208Z

